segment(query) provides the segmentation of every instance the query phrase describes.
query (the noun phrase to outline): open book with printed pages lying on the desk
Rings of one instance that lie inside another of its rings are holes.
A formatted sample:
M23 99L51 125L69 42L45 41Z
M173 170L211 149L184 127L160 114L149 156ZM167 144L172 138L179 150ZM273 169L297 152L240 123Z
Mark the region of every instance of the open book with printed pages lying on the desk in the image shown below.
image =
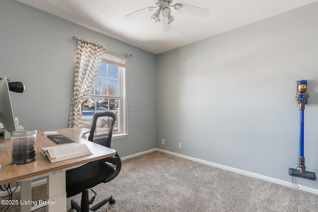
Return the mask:
M47 156L51 163L92 154L86 144L71 143L41 148L40 152Z

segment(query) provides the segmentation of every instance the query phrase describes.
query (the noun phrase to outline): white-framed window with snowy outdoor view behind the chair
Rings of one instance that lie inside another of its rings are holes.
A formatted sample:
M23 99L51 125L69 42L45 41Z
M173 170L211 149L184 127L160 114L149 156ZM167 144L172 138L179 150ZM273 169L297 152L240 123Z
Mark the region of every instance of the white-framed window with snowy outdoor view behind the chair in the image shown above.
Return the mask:
M88 99L81 105L86 128L90 128L93 115L102 111L117 114L114 134L125 134L125 60L103 55L95 83Z

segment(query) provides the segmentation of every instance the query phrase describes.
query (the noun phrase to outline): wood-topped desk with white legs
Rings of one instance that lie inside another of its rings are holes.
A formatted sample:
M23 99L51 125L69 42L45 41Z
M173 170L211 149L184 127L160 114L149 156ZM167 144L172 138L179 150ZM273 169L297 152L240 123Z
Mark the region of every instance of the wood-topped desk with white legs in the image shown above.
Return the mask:
M62 212L66 211L65 171L91 161L113 156L116 154L116 150L81 139L81 135L87 133L89 129L66 128L50 131L57 131L77 143L85 143L93 154L51 163L47 157L40 153L40 149L58 144L47 138L43 134L44 131L38 131L36 136L37 159L33 162L11 165L11 148L0 149L0 185L21 181L21 200L26 201L31 200L31 180L47 177L47 200L54 201L55 204L47 205L46 211ZM0 139L0 142L3 142L3 138ZM37 208L41 208L40 205L33 207L32 210ZM21 205L21 212L29 211L31 211L31 205Z

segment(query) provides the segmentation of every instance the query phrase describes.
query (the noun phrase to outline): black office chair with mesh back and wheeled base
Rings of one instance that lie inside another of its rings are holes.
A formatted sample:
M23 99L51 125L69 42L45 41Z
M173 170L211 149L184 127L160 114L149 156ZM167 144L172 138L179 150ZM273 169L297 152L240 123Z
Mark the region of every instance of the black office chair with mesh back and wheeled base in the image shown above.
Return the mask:
M95 114L93 116L88 141L98 141L97 143L110 147L116 118L117 115L110 111ZM116 169L110 164L115 165ZM89 205L91 205L94 201L96 193L93 191L95 196L89 200L88 189L91 189L100 183L107 183L113 180L119 174L120 169L121 159L118 153L116 153L115 156L93 161L78 168L67 170L67 198L81 193L80 205L75 200L72 200L71 207L76 209L78 212L90 212L98 210L107 202L114 204L115 199L113 199L112 196L109 196L103 201L93 205L92 207L89 207Z

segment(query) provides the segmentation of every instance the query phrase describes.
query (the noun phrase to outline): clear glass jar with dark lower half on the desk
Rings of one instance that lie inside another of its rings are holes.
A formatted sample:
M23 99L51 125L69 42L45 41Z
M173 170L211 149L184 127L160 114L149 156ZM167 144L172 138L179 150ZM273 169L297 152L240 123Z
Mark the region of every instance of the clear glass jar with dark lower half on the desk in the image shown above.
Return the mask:
M36 160L36 130L11 133L11 164L24 164Z

